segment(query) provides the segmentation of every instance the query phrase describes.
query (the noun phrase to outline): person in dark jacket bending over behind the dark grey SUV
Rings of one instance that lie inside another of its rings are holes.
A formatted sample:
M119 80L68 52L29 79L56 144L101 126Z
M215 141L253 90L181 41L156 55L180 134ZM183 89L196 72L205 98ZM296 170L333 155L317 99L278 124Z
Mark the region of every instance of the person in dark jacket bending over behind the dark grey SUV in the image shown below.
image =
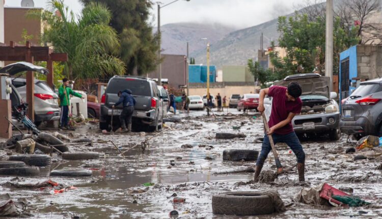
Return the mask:
M113 108L123 103L123 110L121 115L119 116L119 121L121 123L122 132L130 132L131 117L132 117L132 114L134 113L135 99L132 96L131 90L129 89L120 91L118 96L119 96L119 100L118 102L116 102L116 104L113 105ZM126 123L127 123L127 128L126 128Z

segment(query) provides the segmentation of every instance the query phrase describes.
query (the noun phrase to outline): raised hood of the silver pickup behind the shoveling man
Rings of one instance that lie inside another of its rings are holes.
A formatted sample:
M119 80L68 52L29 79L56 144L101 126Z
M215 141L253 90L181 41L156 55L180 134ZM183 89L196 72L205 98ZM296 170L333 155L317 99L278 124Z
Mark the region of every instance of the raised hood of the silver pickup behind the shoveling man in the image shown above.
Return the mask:
M289 83L297 82L303 89L302 95L321 95L330 99L330 77L316 73L294 74L282 80L275 81L275 85L288 87Z

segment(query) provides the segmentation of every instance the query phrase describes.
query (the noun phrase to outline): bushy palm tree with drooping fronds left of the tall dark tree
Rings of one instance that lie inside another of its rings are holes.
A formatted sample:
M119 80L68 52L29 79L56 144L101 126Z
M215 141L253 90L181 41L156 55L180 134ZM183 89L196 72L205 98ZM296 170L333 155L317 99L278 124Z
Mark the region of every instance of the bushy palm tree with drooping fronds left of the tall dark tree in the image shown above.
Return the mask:
M75 19L63 0L50 0L42 13L31 11L46 22L42 41L53 46L55 52L68 53L64 73L72 79L99 78L123 75L124 63L116 58L119 40L116 31L108 25L111 12L102 4L89 4Z

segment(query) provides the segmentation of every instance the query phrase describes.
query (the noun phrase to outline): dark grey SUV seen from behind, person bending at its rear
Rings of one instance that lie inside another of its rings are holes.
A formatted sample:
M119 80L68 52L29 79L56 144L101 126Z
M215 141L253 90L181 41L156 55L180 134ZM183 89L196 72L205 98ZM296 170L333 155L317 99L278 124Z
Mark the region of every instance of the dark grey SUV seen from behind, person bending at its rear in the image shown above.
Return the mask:
M155 81L147 77L139 76L113 76L107 84L104 97L104 104L101 104L99 128L101 130L110 129L111 116L113 114L113 125L119 125L118 116L122 112L122 104L112 106L118 101L118 92L130 89L137 101L134 106L132 123L134 127L148 126L152 131L156 127L159 129L163 125L162 101L160 101L159 90Z

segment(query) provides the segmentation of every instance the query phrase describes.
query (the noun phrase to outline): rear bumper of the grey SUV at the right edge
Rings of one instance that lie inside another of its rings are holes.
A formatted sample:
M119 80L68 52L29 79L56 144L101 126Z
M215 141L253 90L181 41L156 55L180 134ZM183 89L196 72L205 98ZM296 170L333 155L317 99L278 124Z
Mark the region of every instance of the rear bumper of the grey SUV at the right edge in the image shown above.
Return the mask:
M340 129L346 134L374 134L374 125L366 117L360 117L356 121L340 121Z

